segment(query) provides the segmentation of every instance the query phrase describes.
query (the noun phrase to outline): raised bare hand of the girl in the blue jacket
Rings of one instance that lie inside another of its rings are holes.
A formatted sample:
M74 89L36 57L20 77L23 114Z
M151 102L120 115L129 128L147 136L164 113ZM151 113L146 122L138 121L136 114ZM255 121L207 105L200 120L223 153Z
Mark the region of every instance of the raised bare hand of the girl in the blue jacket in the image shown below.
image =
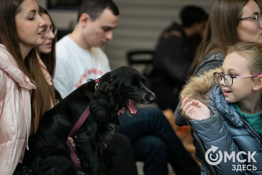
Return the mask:
M185 115L187 115L191 120L202 120L210 117L210 110L206 105L201 103L199 100L191 100L188 102L188 97L182 95L182 105ZM194 105L192 105L194 104ZM196 105L196 106L195 106Z

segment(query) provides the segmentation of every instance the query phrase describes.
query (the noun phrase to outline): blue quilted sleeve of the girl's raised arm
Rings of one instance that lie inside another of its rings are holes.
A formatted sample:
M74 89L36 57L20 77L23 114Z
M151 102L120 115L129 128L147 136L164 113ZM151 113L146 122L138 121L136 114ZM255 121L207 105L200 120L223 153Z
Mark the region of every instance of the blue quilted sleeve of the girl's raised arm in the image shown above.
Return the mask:
M218 165L215 165L218 174L225 174L225 172L226 174L243 174L241 171L232 170L234 167L237 169L238 165L242 166L244 164L237 161L237 153L239 152L239 148L233 142L233 138L222 121L219 112L217 112L214 107L209 108L211 113L210 118L203 120L190 120L190 123L198 133L201 140L204 142L206 150L210 151L210 154L212 155L211 157L217 161L221 160ZM215 152L212 151L214 147L218 147ZM230 160L226 157L225 162L225 152L229 156L231 156L231 153L234 152L235 156ZM222 158L220 157L220 153L222 153ZM240 154L239 158L243 160L243 155Z

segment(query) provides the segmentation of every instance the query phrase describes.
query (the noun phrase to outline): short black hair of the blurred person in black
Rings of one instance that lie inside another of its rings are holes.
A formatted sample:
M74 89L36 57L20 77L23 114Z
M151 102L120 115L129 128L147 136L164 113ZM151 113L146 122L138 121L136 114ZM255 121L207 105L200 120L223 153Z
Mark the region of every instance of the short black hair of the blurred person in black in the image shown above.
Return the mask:
M185 27L191 26L194 22L199 23L208 20L208 14L202 8L196 6L184 7L180 13L180 17Z

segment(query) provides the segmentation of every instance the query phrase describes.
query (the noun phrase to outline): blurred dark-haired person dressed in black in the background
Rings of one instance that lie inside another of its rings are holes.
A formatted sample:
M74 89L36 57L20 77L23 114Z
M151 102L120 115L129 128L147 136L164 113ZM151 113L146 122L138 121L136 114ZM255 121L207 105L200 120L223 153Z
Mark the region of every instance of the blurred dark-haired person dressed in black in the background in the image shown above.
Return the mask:
M180 13L182 25L173 22L166 28L155 49L153 69L147 77L162 110L176 109L178 92L185 83L195 51L205 31L208 14L196 6L186 6Z

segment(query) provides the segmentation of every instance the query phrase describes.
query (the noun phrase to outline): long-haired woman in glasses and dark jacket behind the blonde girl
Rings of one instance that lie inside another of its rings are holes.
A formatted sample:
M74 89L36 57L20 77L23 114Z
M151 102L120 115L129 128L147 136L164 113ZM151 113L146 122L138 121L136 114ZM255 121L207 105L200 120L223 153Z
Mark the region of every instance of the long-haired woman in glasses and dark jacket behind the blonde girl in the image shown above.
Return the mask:
M257 0L216 0L211 8L205 34L189 68L189 75L199 76L220 67L226 48L239 41L262 44L261 11ZM181 100L174 119L179 126L187 125L182 117Z

